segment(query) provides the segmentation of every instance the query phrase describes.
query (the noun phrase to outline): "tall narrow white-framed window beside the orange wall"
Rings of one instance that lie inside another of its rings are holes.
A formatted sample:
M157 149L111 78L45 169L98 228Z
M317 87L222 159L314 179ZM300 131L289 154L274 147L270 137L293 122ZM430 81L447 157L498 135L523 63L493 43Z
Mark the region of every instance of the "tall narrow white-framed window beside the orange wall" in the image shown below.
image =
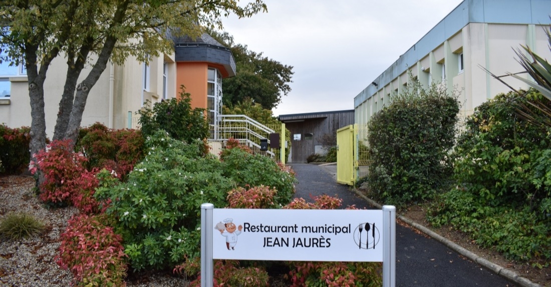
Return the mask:
M217 69L208 68L207 74L207 112L210 125L210 137L218 137L218 115L222 113L222 74Z

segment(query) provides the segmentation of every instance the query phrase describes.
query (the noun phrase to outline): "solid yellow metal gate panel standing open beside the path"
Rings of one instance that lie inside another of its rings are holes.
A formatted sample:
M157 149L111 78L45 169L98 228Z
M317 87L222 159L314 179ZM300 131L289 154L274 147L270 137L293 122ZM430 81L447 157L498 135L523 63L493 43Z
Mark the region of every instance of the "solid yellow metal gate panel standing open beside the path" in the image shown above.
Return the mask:
M358 176L357 134L357 124L337 130L337 182L340 184L354 185Z

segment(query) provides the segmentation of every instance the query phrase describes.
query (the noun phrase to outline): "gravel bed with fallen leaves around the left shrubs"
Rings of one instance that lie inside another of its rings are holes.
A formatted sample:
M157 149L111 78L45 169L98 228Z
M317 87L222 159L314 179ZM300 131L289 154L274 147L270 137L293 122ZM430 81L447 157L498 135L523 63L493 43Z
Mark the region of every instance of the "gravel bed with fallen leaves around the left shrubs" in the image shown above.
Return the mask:
M0 286L71 286L73 275L61 269L54 258L60 246L60 234L67 220L78 210L74 207L46 209L34 195L35 181L28 176L0 177L0 219L9 212L28 212L46 225L44 234L35 238L8 241L0 239ZM187 280L170 274L153 274L127 282L133 287L187 287Z

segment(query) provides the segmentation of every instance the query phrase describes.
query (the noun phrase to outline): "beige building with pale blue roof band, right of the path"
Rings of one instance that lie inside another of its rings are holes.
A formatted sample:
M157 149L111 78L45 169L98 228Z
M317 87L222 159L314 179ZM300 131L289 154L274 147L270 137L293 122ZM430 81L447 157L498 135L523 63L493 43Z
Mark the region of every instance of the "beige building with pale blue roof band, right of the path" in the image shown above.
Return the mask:
M514 52L521 45L551 59L545 33L550 13L551 0L463 1L354 98L355 123L365 126L392 95L407 89L408 73L425 87L434 82L449 92L455 89L461 115L472 114L481 103L509 91L483 68L495 75L523 71ZM511 77L504 80L527 89Z

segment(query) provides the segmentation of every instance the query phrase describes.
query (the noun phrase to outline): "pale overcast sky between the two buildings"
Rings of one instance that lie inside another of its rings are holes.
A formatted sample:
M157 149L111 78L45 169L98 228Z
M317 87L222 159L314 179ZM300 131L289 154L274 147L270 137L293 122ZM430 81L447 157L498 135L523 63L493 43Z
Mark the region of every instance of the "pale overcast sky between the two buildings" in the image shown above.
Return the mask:
M235 43L294 67L274 115L341 111L461 2L264 0L268 13L223 23Z

